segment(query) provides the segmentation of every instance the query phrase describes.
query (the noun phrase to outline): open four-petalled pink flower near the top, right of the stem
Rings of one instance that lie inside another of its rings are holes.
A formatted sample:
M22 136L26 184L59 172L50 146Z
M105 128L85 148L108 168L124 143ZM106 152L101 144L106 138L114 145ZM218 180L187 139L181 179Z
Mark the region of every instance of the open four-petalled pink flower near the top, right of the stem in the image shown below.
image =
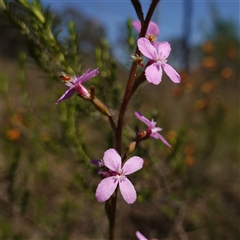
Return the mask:
M162 80L162 68L174 83L181 81L180 75L167 64L167 58L171 52L171 47L168 42L151 42L146 38L138 39L138 48L142 54L151 59L153 63L145 70L145 75L148 82L155 85Z

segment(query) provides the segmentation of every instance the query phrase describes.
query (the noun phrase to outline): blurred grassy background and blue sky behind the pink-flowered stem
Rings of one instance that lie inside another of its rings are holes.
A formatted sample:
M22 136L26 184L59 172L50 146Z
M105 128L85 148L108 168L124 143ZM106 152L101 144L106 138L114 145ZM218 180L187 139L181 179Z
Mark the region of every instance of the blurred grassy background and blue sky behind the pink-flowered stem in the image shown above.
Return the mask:
M141 3L146 14L150 1ZM86 86L117 116L137 16L130 1L29 6L12 2L9 15L1 9L1 238L106 239L90 159L114 146L112 132L77 96L55 105L66 90L58 76L99 67ZM119 196L116 239L136 239L136 230L149 239L240 238L239 14L238 1L163 0L157 7L158 40L171 44L168 63L182 81L165 75L158 86L140 86L123 148L135 126L144 130L135 110L157 121L172 148L149 139L134 152L145 160L130 176L138 199L127 205Z

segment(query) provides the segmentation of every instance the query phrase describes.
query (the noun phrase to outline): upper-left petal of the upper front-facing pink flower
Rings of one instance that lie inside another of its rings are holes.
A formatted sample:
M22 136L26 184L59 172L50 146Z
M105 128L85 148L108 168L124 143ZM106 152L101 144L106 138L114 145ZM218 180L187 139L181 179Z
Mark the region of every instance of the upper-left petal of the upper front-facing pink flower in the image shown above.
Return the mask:
M153 60L157 59L157 49L150 43L147 38L139 38L137 44L139 50L145 57Z

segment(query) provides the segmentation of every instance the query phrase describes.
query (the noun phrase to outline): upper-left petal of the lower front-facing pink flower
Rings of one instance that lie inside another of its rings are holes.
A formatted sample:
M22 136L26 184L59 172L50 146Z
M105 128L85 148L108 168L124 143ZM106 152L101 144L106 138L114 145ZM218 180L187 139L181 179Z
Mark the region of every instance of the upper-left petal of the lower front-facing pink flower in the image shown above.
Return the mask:
M104 165L111 169L112 171L117 172L122 167L122 159L118 152L110 148L103 155Z

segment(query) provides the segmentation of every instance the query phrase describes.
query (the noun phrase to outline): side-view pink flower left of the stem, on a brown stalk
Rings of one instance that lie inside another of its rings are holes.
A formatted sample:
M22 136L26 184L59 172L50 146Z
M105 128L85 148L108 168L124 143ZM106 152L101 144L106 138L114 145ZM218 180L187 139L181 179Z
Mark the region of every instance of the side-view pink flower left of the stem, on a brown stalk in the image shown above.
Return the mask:
M98 69L94 69L91 72L90 69L88 69L81 77L63 77L63 79L67 79L65 84L69 87L69 89L57 100L56 104L70 98L75 92L78 92L82 98L90 99L90 93L82 84L97 75Z

